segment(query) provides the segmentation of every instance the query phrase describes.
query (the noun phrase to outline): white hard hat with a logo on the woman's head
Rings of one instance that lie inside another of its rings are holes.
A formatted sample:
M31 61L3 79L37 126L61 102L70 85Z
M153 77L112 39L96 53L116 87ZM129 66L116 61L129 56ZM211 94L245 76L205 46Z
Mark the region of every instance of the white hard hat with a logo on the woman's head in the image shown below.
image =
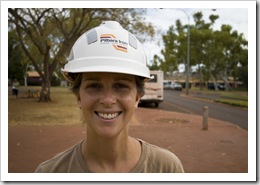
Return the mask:
M140 42L116 21L105 21L81 35L61 72L70 82L74 81L71 73L84 72L124 73L150 79Z

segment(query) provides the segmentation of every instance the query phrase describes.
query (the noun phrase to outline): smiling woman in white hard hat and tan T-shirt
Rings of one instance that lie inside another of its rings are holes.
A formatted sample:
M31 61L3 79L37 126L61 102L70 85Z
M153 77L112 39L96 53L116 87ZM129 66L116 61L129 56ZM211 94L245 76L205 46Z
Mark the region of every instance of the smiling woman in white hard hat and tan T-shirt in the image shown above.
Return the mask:
M170 151L128 135L150 79L144 51L131 33L106 21L76 41L68 60L62 74L73 83L86 139L36 172L184 172Z

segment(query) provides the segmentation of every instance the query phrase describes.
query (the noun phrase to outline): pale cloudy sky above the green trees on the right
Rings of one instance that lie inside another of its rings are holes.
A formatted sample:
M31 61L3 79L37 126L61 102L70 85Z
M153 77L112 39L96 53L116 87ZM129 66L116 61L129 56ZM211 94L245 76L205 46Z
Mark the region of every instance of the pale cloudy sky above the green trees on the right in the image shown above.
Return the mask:
M214 10L215 11L214 11ZM211 14L218 15L213 29L220 30L223 24L232 26L232 31L236 30L239 34L242 33L245 39L248 39L248 9L247 8L149 8L147 9L146 20L152 22L158 28L166 32L171 25L175 25L175 21L180 19L182 24L188 23L190 17L190 25L194 24L192 15L201 11L205 22L210 22ZM186 12L186 14L184 13ZM143 44L148 61L153 59L155 54L162 56L160 50L163 48L161 35L156 36L154 42L146 42ZM161 43L158 45L158 41ZM183 70L183 66L180 66Z

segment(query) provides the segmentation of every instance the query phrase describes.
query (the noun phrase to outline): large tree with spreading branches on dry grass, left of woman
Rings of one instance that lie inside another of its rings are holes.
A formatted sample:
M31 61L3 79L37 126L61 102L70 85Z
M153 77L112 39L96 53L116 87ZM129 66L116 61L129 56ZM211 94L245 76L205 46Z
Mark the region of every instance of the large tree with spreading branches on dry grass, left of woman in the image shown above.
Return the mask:
M69 49L85 31L104 20L117 20L145 40L153 26L144 22L143 9L9 9L9 25L35 70L42 78L39 101L51 101L52 74L61 67Z

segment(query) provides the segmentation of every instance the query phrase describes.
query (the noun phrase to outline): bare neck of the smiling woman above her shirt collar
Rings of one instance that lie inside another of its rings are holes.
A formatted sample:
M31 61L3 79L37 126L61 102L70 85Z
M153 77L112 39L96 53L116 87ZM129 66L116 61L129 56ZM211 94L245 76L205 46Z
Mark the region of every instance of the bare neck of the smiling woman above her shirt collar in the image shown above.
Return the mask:
M90 136L83 142L82 154L93 172L129 172L140 158L141 146L134 138Z

